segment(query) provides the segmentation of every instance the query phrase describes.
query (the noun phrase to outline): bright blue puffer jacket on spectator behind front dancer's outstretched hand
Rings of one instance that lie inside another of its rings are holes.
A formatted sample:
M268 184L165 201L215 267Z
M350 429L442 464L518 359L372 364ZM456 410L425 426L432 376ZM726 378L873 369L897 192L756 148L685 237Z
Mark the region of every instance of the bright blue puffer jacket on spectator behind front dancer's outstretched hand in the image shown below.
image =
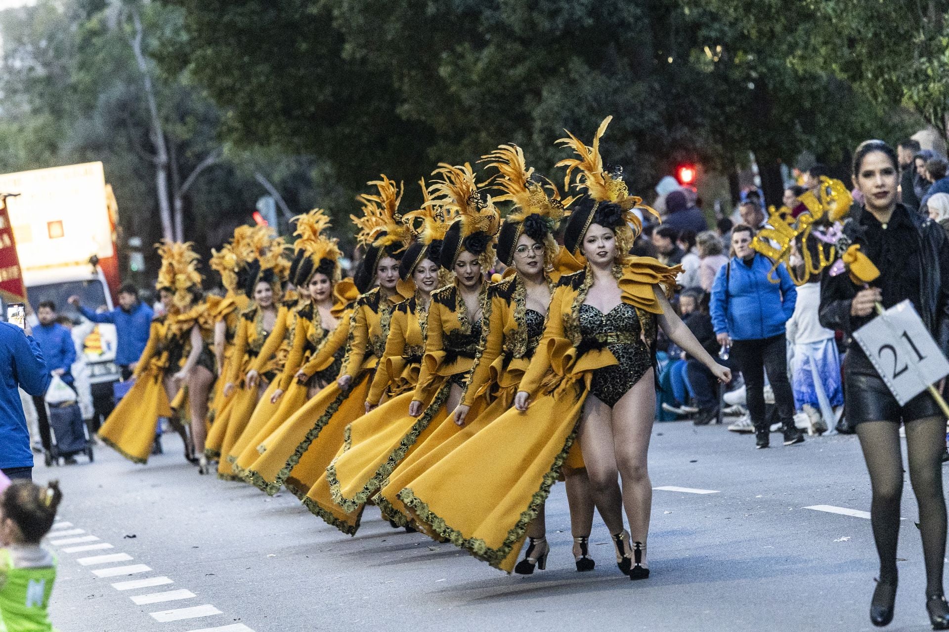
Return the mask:
M772 261L763 255L755 255L751 265L733 258L718 269L710 305L716 334L727 333L733 340L784 334L784 324L794 313L797 290L784 263L774 273L776 283L768 279L771 269Z

